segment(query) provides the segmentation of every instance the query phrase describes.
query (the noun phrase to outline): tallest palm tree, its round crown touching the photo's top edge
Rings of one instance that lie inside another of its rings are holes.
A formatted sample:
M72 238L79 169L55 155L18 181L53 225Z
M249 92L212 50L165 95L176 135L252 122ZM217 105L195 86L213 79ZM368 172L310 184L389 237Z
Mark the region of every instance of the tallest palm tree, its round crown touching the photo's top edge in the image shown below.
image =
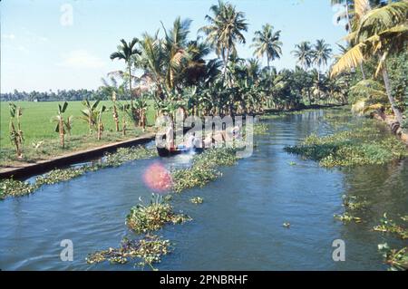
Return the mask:
M225 79L229 56L236 52L237 43L246 43L243 32L248 31L245 14L237 11L234 5L219 0L218 5L212 5L209 10L213 16L206 15L209 25L199 31L207 34L208 42L215 48L224 63L223 78Z

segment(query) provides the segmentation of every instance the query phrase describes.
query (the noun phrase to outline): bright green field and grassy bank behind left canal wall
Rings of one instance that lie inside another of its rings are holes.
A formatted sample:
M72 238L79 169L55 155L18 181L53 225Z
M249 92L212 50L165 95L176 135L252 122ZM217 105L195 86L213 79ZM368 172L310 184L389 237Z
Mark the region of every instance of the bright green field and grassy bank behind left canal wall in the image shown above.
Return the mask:
M58 110L57 101L32 102L17 101L16 105L22 107L21 128L24 133L23 159L17 159L15 148L9 138L9 102L0 102L0 167L15 166L22 162L35 162L42 159L63 155L66 152L99 147L107 143L121 140L129 140L140 136L142 131L135 128L130 117L125 114L127 120L127 135L122 136L121 131L115 131L115 122L112 118L112 111L106 111L102 115L104 131L102 140L97 140L96 135L89 135L88 124L82 120L81 101L69 101L65 117L73 116L73 128L71 135L66 135L65 148L59 145L59 135L55 130L55 123L52 121ZM100 106L110 108L112 101L101 101ZM120 128L121 128L120 113ZM148 124L154 124L154 110L152 105L147 113Z

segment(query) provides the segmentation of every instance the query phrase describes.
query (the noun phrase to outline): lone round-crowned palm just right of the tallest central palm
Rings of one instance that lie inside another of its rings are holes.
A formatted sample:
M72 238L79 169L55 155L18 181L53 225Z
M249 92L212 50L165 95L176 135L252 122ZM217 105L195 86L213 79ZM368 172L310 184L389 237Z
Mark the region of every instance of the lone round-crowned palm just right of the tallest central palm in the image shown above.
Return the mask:
M254 55L257 58L262 58L267 55L267 68L270 68L269 63L275 59L279 59L282 54L282 43L279 41L280 30L274 32L274 27L271 24L262 26L261 31L255 32L255 37L252 39L252 47L255 47Z

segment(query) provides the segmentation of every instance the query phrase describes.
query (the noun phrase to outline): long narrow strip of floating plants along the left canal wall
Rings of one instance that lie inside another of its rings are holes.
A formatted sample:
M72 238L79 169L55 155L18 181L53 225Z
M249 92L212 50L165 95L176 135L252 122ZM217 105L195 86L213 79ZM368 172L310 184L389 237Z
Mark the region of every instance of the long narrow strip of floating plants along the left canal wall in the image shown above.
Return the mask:
M156 149L146 149L142 146L118 149L114 153L106 154L105 160L98 164L79 168L53 169L50 172L36 178L34 184L15 180L13 178L2 179L0 180L0 199L4 199L5 197L20 197L28 195L44 185L52 185L70 180L72 178L77 178L88 171L117 167L131 160L149 159L155 156L157 156Z

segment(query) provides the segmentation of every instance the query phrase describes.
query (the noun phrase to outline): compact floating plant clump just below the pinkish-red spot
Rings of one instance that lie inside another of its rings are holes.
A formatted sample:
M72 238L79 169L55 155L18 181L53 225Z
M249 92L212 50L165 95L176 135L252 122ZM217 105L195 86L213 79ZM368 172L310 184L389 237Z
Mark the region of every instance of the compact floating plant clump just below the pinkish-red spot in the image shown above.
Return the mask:
M141 234L159 230L165 224L182 224L191 218L184 214L176 214L169 203L160 196L152 195L149 205L142 202L131 207L131 212L126 217L126 225L135 233Z

